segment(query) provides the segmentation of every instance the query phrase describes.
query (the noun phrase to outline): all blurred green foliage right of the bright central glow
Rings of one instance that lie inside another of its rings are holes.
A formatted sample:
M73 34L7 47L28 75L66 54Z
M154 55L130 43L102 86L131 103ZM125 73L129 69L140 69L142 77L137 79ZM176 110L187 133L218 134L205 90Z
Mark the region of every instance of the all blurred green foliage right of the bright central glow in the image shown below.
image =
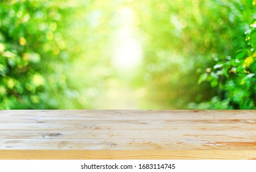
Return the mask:
M255 1L150 1L140 7L152 102L165 109L256 108Z

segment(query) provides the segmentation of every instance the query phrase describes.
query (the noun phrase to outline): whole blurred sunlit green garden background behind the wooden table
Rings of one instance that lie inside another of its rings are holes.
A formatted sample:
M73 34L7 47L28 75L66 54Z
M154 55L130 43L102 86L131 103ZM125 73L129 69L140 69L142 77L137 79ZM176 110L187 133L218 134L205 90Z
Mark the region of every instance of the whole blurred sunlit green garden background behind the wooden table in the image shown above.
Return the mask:
M1 1L0 109L255 109L255 8Z

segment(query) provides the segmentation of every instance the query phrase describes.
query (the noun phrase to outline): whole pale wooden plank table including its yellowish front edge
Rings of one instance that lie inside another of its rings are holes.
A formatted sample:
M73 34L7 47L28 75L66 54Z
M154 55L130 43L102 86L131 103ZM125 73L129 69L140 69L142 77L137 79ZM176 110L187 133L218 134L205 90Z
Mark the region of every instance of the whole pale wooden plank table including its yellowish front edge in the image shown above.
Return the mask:
M256 159L256 111L0 111L0 159Z

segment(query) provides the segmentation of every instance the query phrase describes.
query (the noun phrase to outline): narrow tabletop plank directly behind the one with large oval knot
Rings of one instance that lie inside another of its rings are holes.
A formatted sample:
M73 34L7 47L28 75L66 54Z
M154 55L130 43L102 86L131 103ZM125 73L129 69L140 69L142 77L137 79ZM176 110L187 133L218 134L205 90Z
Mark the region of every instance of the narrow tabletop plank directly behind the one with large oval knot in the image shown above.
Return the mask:
M207 125L207 127L206 127ZM229 123L217 123L217 124L207 124L207 123L184 123L184 124L173 124L168 125L168 123L157 124L157 123L148 123L148 124L100 124L100 123L83 123L79 122L74 125L67 122L56 123L56 125L49 125L49 123L40 123L40 124L27 124L27 123L4 123L0 125L0 130L84 130L85 128L93 128L94 130L118 130L120 128L126 129L147 129L147 130L158 130L160 128L165 130L242 130L242 131L251 131L256 130L256 125L247 125L240 124L234 125Z

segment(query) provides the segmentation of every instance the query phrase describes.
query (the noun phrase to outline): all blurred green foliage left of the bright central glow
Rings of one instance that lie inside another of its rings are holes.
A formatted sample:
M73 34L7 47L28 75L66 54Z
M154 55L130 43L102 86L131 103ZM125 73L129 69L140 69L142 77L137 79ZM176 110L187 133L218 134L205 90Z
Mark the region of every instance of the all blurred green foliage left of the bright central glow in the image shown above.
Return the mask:
M117 25L112 12L116 6L2 1L0 108L92 108L110 73L106 47Z

